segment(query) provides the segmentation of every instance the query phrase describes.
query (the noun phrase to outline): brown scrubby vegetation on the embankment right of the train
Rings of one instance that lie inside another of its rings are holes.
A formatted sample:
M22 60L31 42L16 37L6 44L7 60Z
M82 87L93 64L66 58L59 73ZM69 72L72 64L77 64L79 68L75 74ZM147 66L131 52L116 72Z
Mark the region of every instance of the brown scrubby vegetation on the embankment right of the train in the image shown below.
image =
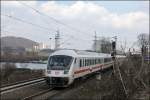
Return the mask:
M122 84L120 77L117 77L117 73L114 74L113 71L105 71L101 72L101 80L93 77L91 80L83 82L81 86L49 99L149 100L149 62L144 62L144 65L141 65L141 62L141 57L131 56L127 57L122 65L117 65L124 84Z

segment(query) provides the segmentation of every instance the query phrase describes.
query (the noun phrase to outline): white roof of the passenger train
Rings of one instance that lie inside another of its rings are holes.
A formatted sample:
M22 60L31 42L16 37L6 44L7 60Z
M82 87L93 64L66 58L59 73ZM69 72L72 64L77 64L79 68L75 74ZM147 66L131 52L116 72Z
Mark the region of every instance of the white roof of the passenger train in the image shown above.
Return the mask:
M88 52L84 50L70 50L70 49L56 50L50 56L54 56L54 55L67 55L72 57L103 57L103 58L111 57L110 54L105 54L105 53L96 53L96 52Z

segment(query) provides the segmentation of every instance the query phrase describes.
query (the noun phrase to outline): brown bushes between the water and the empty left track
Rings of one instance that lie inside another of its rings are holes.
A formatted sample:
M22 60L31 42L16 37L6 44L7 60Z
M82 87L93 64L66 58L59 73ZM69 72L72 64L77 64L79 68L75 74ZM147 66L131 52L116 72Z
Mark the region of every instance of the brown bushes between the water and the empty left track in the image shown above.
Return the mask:
M0 73L2 86L42 76L44 76L43 70L16 68L14 64L10 63L2 65Z

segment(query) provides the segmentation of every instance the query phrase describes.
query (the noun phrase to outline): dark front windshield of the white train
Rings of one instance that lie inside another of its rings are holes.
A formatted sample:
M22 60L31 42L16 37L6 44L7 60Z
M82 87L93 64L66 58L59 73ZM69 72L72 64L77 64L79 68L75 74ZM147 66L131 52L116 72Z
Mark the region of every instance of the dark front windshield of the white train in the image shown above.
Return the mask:
M70 56L65 56L65 55L55 55L51 56L49 61L48 61L48 68L51 70L64 70L64 69L69 69L71 62L72 62L72 57Z

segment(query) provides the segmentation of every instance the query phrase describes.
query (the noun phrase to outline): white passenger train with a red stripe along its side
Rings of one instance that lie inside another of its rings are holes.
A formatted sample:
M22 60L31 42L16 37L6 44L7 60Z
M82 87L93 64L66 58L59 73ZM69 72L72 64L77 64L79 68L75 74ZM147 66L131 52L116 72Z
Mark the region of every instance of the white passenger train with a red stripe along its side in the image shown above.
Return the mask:
M124 56L118 56L124 58ZM79 50L57 50L49 56L46 82L55 87L67 87L75 79L111 67L110 54Z

